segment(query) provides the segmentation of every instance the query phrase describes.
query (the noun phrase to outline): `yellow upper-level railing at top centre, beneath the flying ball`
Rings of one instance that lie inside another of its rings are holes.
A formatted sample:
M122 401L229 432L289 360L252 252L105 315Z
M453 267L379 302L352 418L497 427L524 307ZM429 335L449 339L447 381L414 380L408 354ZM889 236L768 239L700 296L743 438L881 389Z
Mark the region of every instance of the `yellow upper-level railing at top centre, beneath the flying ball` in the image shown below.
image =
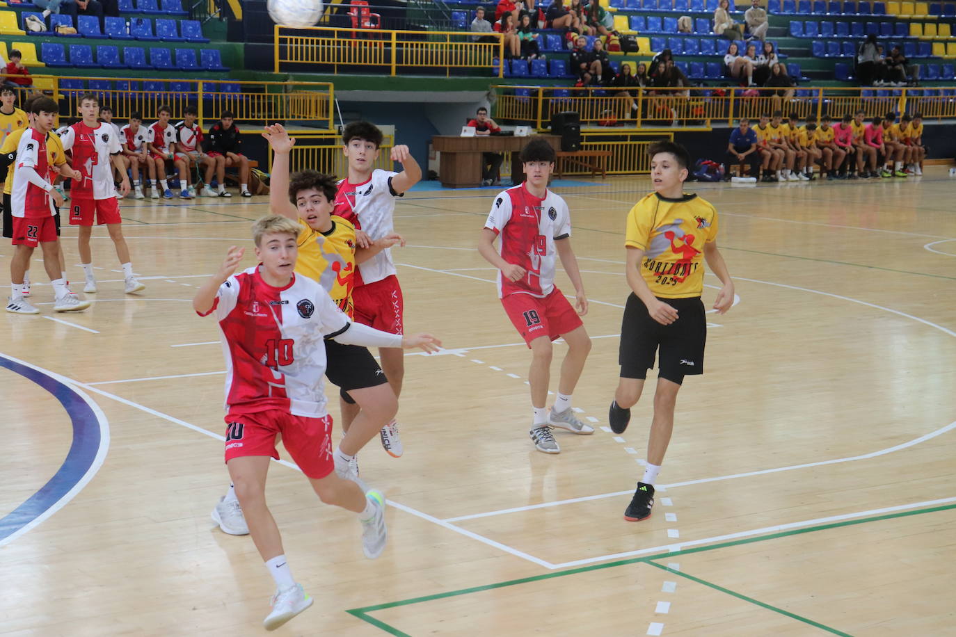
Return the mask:
M308 34L304 34L308 33ZM501 77L504 38L501 33L481 33L494 42L474 42L471 32L392 31L311 27L289 29L275 26L275 73L291 65L326 66L334 73L340 68L360 67L363 71L399 74L405 69L441 69L445 76L463 69L477 69Z

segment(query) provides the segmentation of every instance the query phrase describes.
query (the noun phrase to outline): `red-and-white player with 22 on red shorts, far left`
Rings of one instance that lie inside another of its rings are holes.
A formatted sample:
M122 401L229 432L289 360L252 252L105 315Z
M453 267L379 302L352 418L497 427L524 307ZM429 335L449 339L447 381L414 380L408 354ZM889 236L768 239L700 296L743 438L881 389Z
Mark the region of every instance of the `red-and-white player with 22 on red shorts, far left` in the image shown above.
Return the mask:
M70 293L59 264L54 204L63 205L63 198L47 179L50 173L47 136L53 129L59 106L49 97L38 97L31 102L30 111L33 122L20 138L14 159L11 190L13 256L7 311L16 314L36 314L39 311L24 298L23 279L37 245L43 250L43 266L54 287L54 310L65 312L89 308L89 301L80 301Z

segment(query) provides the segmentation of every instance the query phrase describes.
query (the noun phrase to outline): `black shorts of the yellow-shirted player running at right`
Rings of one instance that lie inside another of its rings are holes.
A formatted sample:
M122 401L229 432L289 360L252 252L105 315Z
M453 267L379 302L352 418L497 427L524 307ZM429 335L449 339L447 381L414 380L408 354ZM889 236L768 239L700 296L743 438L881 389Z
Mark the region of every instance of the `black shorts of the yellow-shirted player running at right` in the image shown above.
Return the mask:
M670 325L652 319L634 293L627 297L620 326L620 377L646 378L660 349L658 376L680 385L684 376L704 373L704 302L699 296L659 300L677 309L677 320Z

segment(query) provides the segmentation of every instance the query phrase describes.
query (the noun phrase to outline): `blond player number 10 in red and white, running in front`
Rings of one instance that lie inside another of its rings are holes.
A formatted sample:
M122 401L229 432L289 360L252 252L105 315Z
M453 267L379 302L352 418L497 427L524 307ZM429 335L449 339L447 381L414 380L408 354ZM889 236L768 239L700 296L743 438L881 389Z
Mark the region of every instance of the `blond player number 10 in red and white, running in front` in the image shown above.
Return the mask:
M332 418L322 383L324 338L425 351L440 345L428 334L402 336L351 323L317 282L294 274L299 228L278 215L256 221L252 233L260 264L233 275L244 250L230 247L219 272L193 299L197 313L215 312L219 321L227 366L226 464L252 540L275 580L272 612L264 622L270 630L312 605L295 584L266 506L270 459L279 457L276 435L323 502L359 514L367 558L379 557L387 539L381 494L363 494L357 482L334 471Z

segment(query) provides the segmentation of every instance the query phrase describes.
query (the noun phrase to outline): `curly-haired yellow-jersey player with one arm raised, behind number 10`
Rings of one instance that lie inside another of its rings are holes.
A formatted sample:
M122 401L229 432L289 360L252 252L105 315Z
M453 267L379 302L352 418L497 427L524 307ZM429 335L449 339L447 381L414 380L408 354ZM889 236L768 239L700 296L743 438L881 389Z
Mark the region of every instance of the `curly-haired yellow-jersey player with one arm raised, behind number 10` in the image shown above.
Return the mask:
M313 170L297 172L290 177L289 154L295 139L290 138L279 124L267 126L263 137L269 141L273 153L272 214L292 219L300 227L295 272L317 282L351 319L356 266L387 247L403 245L404 241L400 235L391 233L367 248L358 248L355 226L332 214L337 194L336 178ZM368 349L342 345L327 338L325 355L325 375L339 388L339 400L359 405L355 419L351 422L342 420L345 436L333 454L336 473L339 478L353 479L362 485L356 456L398 412L398 398ZM249 533L231 485L227 495L213 509L212 519L230 535Z

